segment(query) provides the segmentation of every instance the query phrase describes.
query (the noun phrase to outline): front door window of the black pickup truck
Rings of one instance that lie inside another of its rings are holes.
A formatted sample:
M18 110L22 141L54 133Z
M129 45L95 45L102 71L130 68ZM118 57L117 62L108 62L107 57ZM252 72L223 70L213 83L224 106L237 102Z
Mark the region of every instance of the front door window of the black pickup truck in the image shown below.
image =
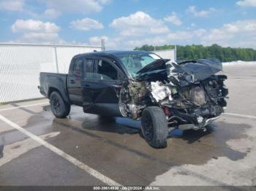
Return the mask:
M107 61L99 60L97 63L97 79L117 80L118 71Z

